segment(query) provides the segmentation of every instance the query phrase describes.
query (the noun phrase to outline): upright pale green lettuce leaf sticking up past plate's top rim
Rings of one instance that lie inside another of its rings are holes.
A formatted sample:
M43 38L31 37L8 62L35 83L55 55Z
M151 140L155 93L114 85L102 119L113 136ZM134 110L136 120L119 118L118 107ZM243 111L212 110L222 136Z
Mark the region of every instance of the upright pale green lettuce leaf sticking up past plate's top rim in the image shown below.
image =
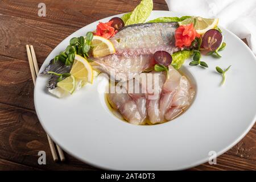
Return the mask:
M133 12L131 12L130 17L129 14L125 14L125 17L122 19L128 19L125 21L125 25L129 24L137 24L137 23L144 23L148 16L150 16L151 11L153 10L153 1L152 0L142 0L141 3Z

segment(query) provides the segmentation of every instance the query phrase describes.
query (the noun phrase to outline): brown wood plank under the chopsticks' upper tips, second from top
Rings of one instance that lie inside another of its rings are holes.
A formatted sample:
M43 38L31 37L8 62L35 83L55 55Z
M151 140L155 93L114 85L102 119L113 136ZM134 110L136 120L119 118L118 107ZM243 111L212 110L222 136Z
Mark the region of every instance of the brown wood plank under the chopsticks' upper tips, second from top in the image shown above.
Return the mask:
M27 60L26 44L35 48L38 63L78 28L0 14L0 55Z

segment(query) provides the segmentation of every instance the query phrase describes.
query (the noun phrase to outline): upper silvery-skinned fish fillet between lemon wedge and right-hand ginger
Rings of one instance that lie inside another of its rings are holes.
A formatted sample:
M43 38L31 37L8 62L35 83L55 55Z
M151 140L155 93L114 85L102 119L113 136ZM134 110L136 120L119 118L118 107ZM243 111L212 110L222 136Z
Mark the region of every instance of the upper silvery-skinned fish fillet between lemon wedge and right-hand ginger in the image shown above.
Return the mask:
M176 28L176 22L137 24L123 28L110 41L113 42L117 53L127 49L169 46L173 43Z

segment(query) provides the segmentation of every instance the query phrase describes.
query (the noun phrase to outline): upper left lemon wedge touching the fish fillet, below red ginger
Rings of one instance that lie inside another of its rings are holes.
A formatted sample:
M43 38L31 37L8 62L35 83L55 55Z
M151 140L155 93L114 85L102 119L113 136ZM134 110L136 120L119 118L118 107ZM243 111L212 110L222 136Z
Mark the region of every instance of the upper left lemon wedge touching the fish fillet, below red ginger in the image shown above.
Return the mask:
M93 36L92 47L93 57L103 57L115 53L113 43L101 36Z

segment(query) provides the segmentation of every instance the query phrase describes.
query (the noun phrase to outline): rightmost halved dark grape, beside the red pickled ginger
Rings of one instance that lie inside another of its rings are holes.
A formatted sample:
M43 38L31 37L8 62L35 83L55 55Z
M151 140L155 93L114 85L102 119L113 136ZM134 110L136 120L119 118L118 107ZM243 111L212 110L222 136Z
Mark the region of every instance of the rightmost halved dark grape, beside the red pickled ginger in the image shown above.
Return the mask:
M205 32L201 44L201 48L207 51L215 51L222 42L221 32L216 29L210 29Z

